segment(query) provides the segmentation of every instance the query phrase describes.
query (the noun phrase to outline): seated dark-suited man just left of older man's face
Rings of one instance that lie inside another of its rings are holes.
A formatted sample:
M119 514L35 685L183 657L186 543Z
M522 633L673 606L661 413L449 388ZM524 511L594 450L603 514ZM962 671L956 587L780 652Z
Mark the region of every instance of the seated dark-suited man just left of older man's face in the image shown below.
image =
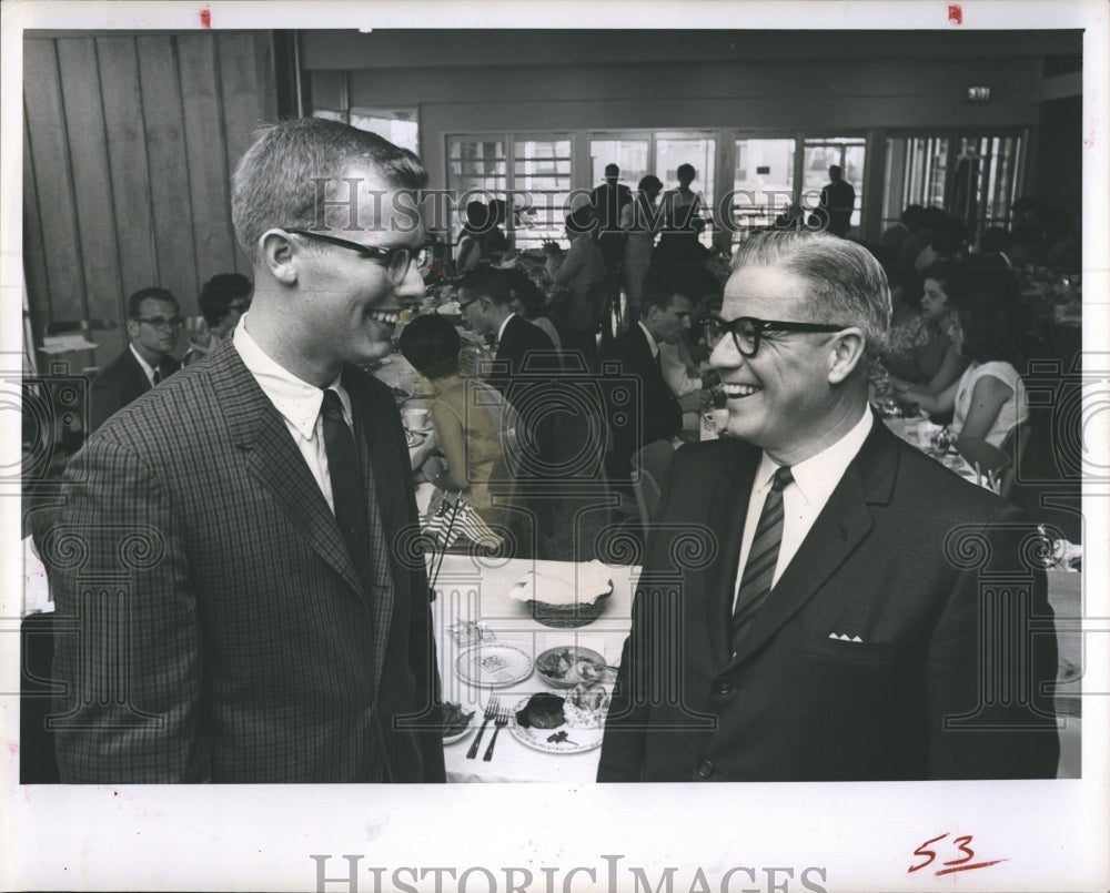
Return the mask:
M690 300L683 294L682 276L665 265L644 285L643 314L636 325L617 335L602 356L615 361L619 374L639 387L632 400L625 388L607 388L606 399L613 449L606 459L612 480L627 480L634 453L654 440L670 440L682 429L683 414L663 377L659 344L674 344L689 325Z

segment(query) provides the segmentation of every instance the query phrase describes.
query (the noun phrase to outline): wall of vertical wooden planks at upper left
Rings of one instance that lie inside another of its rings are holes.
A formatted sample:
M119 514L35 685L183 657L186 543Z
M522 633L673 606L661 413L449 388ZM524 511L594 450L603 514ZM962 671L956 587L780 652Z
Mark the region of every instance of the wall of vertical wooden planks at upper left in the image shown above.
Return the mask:
M250 273L230 172L276 115L270 33L31 32L23 43L23 260L36 341L84 323L103 365L124 343L127 296ZM184 341L184 339L182 339Z

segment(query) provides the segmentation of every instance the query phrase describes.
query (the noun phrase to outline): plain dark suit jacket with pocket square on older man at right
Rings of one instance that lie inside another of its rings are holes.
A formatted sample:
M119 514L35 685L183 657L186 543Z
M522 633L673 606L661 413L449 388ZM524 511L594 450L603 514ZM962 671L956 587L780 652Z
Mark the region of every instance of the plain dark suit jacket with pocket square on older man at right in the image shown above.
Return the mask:
M598 780L1053 778L1056 638L1020 510L876 422L734 657L759 455L675 454Z

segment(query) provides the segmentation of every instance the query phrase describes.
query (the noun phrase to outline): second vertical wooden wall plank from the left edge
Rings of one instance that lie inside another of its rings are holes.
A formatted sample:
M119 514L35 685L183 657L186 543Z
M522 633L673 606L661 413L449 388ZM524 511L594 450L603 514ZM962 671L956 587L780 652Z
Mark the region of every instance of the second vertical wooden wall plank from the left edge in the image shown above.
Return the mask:
M111 322L120 316L122 286L95 44L80 39L59 40L58 70L65 85L65 130L73 169L85 313L91 321Z

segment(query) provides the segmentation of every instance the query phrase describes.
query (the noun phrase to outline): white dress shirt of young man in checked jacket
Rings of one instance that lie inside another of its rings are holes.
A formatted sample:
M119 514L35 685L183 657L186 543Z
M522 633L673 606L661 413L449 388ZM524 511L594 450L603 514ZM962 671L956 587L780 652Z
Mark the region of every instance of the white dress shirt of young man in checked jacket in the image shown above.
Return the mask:
M274 408L281 413L285 427L289 429L296 448L301 450L304 461L315 478L316 486L327 500L332 514L335 514L335 503L332 499L332 480L327 474L327 451L324 448L324 425L320 407L324 403L324 392L315 385L310 385L297 378L272 359L259 343L246 331L245 314L235 326L232 344L239 351L243 365L250 369L259 387L270 398ZM353 429L351 415L351 397L340 384L340 377L327 386L340 395L343 404L343 420Z

